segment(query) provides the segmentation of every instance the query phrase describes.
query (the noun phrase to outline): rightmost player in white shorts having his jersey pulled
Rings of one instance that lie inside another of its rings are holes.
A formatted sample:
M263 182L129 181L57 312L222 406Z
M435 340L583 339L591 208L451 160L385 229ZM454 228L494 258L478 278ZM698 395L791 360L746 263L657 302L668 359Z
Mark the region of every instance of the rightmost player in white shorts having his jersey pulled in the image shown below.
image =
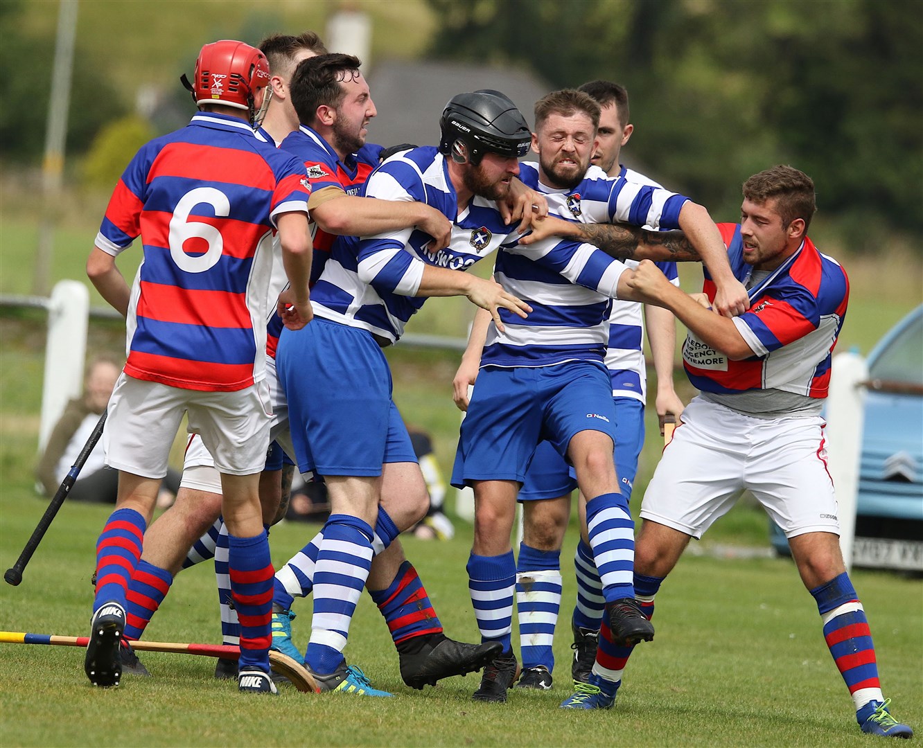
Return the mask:
M798 573L817 603L823 636L863 732L910 738L881 694L875 648L862 603L845 570L837 504L827 471L821 407L849 296L845 270L808 236L814 184L790 166L743 185L740 222L719 224L749 312L713 314L639 267L632 288L689 328L683 362L701 390L683 412L644 493L635 589L653 615L654 596L690 538L700 538L747 489L785 531ZM709 302L714 285L706 277ZM629 652L599 654L573 706L609 708Z

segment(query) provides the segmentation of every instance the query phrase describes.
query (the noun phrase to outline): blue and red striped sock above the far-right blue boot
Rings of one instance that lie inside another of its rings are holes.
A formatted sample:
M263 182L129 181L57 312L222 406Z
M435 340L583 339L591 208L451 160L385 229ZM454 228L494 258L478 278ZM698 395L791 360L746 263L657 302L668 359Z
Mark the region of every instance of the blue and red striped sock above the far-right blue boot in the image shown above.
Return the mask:
M835 576L810 593L821 613L823 637L857 711L869 701L883 702L869 621L849 575Z

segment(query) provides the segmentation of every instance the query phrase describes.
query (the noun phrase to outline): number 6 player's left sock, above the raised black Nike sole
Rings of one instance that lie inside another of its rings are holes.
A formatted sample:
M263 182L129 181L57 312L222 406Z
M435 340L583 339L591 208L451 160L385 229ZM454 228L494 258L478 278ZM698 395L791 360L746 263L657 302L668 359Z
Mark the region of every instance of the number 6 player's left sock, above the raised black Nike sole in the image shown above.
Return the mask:
M141 558L147 522L134 509L116 509L102 528L96 542L95 613L105 602L126 607L126 593L131 576Z

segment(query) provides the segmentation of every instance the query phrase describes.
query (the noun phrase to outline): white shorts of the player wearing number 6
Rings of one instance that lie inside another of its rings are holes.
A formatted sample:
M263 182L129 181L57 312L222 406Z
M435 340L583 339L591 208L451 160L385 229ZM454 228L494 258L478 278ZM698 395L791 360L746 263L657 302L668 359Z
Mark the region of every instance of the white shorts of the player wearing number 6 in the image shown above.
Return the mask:
M202 392L121 374L109 400L102 433L106 464L145 478L162 478L183 416L198 433L216 469L250 475L266 464L270 445L269 387Z

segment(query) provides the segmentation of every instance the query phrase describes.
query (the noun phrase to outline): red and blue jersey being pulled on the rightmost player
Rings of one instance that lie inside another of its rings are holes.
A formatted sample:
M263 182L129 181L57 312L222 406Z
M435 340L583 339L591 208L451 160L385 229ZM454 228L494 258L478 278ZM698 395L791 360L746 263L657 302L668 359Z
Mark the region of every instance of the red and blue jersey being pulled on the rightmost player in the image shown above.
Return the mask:
M749 278L743 260L740 224L719 223L728 260L741 282ZM703 291L714 301L716 288L703 268ZM849 279L836 260L821 255L808 237L794 255L749 291L750 308L734 317L737 331L753 350L731 361L689 334L683 365L689 381L705 392L734 394L779 389L809 398L826 398L836 338L849 300Z

